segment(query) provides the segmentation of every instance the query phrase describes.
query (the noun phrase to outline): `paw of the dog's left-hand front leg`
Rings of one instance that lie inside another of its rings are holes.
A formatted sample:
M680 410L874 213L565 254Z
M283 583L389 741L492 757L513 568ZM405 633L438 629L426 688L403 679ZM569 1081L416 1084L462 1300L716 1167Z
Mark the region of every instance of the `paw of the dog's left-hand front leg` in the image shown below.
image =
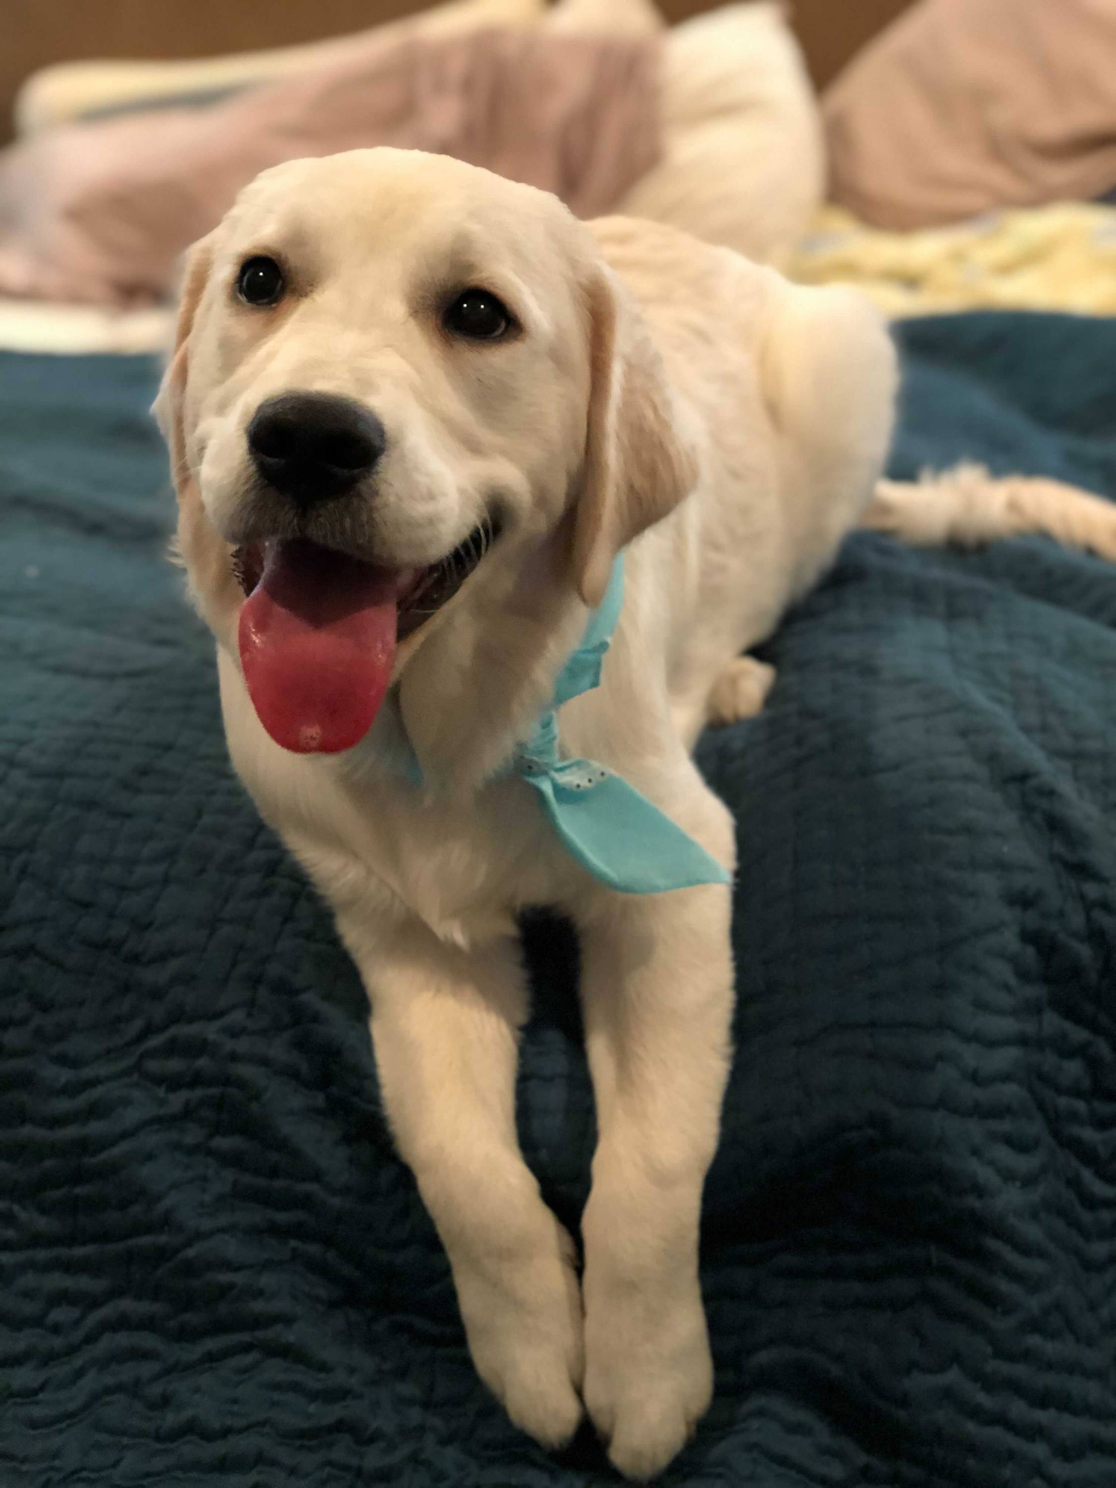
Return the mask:
M554 1242L497 1269L454 1265L476 1372L515 1424L549 1449L582 1418L582 1293L574 1247L554 1220Z

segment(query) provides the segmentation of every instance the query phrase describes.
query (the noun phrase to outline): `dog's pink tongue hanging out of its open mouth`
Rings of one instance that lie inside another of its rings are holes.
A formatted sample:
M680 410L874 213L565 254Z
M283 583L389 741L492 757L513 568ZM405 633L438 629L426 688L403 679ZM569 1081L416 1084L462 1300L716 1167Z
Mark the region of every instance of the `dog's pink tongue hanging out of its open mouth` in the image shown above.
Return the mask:
M248 695L277 744L336 754L368 734L391 680L408 579L315 543L269 545L238 641Z

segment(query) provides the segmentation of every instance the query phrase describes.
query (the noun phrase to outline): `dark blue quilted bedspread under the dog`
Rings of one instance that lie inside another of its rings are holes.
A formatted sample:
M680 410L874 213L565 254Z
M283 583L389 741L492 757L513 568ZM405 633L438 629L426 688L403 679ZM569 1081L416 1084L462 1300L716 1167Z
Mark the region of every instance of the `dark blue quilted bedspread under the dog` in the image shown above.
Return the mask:
M1116 494L1116 323L900 327L896 473ZM393 1156L357 976L231 777L143 359L0 357L0 1485L528 1488ZM664 1479L1116 1482L1116 571L857 536L702 743L740 818L717 1397ZM524 1147L592 1116L528 927Z

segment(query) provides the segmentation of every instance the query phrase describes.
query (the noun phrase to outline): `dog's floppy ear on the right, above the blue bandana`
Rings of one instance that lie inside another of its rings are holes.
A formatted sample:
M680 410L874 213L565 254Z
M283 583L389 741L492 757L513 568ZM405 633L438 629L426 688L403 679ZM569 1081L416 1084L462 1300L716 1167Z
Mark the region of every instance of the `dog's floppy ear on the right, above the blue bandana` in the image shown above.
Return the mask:
M573 512L573 580L594 609L616 554L692 490L698 461L662 359L609 269L589 281L589 417Z

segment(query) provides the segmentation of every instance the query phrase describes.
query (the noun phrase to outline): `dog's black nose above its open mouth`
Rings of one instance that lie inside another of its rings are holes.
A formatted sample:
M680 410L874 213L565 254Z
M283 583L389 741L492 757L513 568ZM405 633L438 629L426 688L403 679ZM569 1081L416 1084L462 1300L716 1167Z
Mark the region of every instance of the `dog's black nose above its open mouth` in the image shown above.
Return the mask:
M351 491L385 443L375 414L333 393L280 393L260 403L248 424L256 469L299 506Z

